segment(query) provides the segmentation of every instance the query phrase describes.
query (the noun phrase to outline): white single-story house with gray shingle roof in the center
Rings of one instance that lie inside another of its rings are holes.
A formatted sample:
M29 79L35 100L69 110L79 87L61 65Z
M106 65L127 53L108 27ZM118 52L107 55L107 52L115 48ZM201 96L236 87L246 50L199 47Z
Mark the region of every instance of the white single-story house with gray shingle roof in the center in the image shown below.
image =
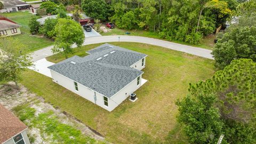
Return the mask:
M66 89L112 111L145 83L146 54L110 44L48 67L52 80ZM68 105L68 103L67 103Z

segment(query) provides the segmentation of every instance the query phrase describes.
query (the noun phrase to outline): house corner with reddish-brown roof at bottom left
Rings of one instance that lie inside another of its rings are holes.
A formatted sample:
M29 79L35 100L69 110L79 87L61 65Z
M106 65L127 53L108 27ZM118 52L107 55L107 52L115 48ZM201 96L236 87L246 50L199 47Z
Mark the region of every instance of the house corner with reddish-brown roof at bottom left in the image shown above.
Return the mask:
M27 126L0 104L0 143L29 144Z

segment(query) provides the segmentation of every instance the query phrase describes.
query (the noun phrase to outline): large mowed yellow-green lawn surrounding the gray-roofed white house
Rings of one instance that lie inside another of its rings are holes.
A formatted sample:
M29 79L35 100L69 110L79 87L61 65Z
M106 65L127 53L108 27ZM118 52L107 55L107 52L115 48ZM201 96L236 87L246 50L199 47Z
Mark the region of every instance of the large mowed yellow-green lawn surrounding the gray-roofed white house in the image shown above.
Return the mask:
M73 115L114 143L187 143L177 124L175 101L185 97L189 83L210 78L213 60L141 43L110 43L148 55L142 77L148 82L135 91L136 102L125 100L108 112L79 97L52 79L27 70L21 84L47 102ZM79 55L100 44L81 47ZM83 54L84 53L84 54ZM74 54L73 54L74 55ZM70 55L71 56L71 55ZM63 56L48 58L58 62Z

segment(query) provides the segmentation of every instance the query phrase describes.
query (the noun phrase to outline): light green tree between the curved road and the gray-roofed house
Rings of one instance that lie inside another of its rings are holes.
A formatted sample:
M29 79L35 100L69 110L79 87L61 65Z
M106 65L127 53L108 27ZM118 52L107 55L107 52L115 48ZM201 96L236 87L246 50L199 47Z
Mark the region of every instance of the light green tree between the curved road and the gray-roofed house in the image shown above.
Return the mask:
M66 58L67 54L72 52L71 46L76 44L81 46L84 42L84 32L79 23L70 19L58 19L58 23L54 28L56 38L52 51L54 53L63 50Z

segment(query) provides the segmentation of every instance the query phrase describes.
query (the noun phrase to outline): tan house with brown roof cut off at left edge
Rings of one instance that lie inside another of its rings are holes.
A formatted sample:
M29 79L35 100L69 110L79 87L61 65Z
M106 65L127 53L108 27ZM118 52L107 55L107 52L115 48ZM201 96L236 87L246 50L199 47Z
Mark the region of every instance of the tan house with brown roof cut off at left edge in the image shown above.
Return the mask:
M16 22L0 16L0 37L20 34L20 25Z

